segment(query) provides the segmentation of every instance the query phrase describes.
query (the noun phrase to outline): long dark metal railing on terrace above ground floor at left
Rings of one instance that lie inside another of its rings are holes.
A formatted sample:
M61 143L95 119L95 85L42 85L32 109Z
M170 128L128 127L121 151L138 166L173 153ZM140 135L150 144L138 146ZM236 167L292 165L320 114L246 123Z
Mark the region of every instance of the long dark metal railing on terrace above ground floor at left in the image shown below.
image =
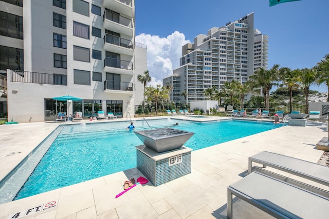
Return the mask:
M30 71L11 71L11 82L66 86L67 75L47 74Z

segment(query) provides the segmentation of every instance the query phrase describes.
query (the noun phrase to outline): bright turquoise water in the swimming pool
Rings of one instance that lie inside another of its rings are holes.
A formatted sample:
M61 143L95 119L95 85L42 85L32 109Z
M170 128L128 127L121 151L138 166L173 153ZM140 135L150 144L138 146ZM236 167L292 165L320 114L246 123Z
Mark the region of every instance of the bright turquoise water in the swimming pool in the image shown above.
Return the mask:
M281 127L247 121L195 123L174 119L134 123L135 130L169 127L194 132L184 145L202 149L236 138ZM136 167L136 148L142 142L126 131L129 122L65 126L43 156L15 200L92 180ZM234 146L232 146L234 147Z

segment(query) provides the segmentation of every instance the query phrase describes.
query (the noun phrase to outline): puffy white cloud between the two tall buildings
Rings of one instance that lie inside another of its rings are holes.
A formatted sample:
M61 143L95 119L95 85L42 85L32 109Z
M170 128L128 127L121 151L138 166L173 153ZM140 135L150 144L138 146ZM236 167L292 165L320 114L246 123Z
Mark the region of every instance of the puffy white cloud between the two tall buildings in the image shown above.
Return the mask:
M181 47L190 43L185 40L185 35L178 31L162 38L142 33L136 36L136 42L147 45L148 70L152 77L148 86L153 87L162 85L162 78L171 75L173 69L179 67Z

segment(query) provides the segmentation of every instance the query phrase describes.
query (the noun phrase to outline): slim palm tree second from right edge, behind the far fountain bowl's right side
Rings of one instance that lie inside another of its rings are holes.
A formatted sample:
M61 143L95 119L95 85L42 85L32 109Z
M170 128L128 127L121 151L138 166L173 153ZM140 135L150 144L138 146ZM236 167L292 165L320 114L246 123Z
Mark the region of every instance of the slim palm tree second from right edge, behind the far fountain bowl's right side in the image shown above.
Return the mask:
M316 83L316 71L314 69L303 68L296 69L299 75L299 84L305 93L305 113L308 113L308 94L309 87Z

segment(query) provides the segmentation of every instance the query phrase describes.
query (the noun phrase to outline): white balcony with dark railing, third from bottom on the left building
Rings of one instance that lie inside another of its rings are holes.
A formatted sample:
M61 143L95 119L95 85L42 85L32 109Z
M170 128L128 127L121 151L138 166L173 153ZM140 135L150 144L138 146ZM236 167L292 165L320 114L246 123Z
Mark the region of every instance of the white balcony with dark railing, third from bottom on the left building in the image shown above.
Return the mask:
M133 56L133 42L118 36L106 33L104 36L104 50Z

